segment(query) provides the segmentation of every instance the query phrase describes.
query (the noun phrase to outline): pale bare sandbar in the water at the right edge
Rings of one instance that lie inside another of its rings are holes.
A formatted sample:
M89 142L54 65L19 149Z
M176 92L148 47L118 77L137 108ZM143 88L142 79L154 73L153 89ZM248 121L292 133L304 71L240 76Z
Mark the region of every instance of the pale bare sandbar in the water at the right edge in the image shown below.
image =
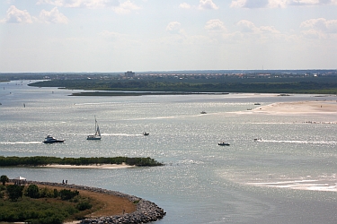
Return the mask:
M337 113L336 100L313 100L297 102L272 103L270 105L254 108L253 113L268 114L315 114Z

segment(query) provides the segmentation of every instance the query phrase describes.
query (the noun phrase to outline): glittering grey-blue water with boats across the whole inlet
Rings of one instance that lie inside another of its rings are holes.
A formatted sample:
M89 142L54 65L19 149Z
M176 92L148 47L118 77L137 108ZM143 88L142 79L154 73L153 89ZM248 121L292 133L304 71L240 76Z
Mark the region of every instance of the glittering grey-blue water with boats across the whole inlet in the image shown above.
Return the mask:
M335 96L72 97L79 90L27 83L0 83L1 156L151 157L166 165L0 168L1 175L67 179L137 195L164 208L160 224L337 222L336 114L271 116L247 110L259 107L255 102ZM94 133L94 116L102 141L85 140ZM46 145L47 134L66 142ZM263 141L254 142L257 137ZM231 145L220 147L219 141Z

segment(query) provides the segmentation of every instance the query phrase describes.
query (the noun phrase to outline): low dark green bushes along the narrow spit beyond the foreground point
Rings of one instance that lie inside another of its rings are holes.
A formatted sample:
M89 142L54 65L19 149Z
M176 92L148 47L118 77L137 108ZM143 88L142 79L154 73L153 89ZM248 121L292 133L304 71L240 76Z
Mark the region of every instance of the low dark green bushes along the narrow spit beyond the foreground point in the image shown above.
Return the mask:
M163 166L163 163L155 159L147 158L129 158L129 157L91 157L91 158L58 158L58 157L4 157L0 156L0 167L8 166L45 166L49 164L61 165L92 165L92 164L122 164L137 167L155 167Z

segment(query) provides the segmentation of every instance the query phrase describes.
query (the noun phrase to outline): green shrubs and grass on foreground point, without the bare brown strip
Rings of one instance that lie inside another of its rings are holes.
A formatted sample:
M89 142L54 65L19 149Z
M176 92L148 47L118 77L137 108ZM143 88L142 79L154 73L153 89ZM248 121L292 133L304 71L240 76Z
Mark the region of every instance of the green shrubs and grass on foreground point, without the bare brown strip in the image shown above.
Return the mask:
M58 224L81 219L101 206L76 190L38 185L2 185L0 194L0 222Z

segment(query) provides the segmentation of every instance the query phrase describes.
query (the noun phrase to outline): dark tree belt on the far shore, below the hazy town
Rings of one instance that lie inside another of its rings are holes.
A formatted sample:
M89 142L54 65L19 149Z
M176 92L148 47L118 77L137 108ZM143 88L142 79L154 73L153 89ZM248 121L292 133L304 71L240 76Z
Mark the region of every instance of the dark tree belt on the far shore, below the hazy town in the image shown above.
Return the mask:
M259 82L256 82L259 80ZM252 82L197 82L184 80L158 82L148 80L52 80L31 83L31 86L61 87L70 90L132 90L132 91L185 91L185 92L260 92L260 93L317 93L337 94L333 78L253 79Z

